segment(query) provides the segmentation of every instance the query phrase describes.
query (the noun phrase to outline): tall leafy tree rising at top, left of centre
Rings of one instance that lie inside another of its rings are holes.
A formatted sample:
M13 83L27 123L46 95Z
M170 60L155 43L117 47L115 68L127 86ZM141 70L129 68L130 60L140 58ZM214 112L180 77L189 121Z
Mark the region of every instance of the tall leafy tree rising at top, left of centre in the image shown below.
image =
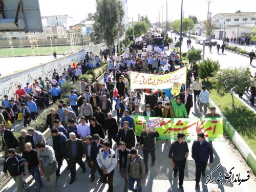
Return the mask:
M96 4L97 7L94 14L95 36L96 38L102 37L108 46L112 46L118 32L120 36L124 32L122 3L118 0L96 0Z

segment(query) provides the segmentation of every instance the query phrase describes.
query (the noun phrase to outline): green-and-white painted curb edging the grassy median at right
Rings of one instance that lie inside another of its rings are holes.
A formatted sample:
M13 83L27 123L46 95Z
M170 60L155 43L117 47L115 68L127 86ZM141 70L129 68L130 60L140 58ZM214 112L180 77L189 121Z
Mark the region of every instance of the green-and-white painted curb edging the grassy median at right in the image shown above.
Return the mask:
M221 113L220 109L212 100L210 100L210 106L215 106L221 117L225 118L225 116ZM256 175L256 156L251 151L250 147L246 144L243 138L233 128L233 126L229 123L227 119L223 123L223 130L226 132L227 136L234 143L234 145L236 145L238 151L241 153L249 167L252 169L254 175Z

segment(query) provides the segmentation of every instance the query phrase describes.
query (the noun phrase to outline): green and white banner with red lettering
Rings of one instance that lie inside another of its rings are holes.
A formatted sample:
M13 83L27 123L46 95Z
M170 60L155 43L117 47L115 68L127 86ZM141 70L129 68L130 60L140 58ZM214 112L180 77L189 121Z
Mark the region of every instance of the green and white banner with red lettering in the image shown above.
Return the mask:
M148 129L156 129L161 139L177 139L179 132L186 135L186 140L196 140L203 132L209 141L223 139L222 118L159 118L134 115L135 134ZM156 122L158 120L158 122Z

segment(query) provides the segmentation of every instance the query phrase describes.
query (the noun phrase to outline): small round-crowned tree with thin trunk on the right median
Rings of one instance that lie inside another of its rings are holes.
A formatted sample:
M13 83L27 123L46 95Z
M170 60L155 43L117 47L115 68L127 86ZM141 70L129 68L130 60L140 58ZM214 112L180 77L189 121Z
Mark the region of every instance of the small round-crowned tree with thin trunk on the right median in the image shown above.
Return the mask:
M253 81L250 78L250 71L246 68L222 69L215 75L218 90L229 93L232 97L232 108L234 108L234 93L244 93L246 88L251 86Z

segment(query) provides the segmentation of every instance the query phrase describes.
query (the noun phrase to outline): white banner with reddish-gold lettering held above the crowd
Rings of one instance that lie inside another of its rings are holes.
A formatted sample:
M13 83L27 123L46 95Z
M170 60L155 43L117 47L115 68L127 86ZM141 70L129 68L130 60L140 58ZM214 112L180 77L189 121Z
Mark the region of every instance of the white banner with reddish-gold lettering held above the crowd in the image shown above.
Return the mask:
M173 83L186 83L186 66L165 75L131 72L132 89L169 89Z

